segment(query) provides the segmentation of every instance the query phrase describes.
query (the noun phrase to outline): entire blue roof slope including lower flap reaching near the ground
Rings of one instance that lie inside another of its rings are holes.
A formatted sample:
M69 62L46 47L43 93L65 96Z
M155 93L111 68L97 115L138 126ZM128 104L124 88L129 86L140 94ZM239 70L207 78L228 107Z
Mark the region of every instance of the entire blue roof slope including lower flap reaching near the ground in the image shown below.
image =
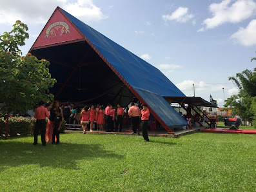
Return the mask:
M159 69L63 10L84 36L133 87L159 118L172 128L188 124L163 98L186 97Z

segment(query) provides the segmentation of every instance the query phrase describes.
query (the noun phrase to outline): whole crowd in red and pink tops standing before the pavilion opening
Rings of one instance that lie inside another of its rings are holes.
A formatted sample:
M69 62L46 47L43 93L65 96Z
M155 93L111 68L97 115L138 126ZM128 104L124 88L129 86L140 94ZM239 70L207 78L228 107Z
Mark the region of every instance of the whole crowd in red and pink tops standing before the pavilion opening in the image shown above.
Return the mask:
M96 131L119 131L123 129L123 123L127 124L128 117L131 119L133 128L132 134L140 134L139 124L142 122L143 138L146 141L148 139L148 119L150 117L150 111L146 104L143 105L141 110L135 106L134 102L131 103L131 108L126 108L124 112L121 104L117 104L116 108L112 104L108 104L106 108L103 105L84 106L82 109L78 109L74 103L65 106L60 106L58 101L50 103L45 108L43 101L39 102L39 108L35 110L35 131L34 131L34 145L37 145L37 135L41 132L41 141L43 146L46 146L46 142L52 144L59 144L59 133L62 124L62 120L66 121L66 126L76 126L81 124L83 133L86 130L94 131L94 123L96 124ZM46 118L48 121L46 122ZM57 139L55 142L55 138Z

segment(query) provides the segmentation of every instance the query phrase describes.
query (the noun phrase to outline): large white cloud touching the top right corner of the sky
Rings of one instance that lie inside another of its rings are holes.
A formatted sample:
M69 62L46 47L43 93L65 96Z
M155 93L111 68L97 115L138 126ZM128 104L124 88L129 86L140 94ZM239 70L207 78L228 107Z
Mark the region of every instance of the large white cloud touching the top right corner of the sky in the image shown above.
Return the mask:
M205 19L202 24L205 29L212 29L224 23L239 23L256 14L256 3L253 0L223 0L221 3L212 3L209 6L212 18Z

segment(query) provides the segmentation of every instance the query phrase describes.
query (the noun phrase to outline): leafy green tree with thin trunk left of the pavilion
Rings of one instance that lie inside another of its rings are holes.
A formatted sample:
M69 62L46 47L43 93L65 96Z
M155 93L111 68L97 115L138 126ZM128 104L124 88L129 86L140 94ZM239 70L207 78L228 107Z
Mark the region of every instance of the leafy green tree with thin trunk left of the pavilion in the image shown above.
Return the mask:
M49 88L56 81L47 68L50 62L38 60L30 53L21 57L19 46L24 46L29 37L28 27L21 21L13 27L11 32L0 35L0 111L24 113L41 100L52 100L54 95L49 94ZM6 133L7 129L8 124Z

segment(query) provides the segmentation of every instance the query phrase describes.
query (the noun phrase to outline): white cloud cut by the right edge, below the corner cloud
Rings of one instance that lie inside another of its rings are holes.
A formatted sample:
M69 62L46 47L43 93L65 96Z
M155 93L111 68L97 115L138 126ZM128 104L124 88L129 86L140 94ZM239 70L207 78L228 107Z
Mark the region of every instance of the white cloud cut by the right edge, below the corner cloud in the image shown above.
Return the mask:
M256 19L251 20L246 28L239 28L231 38L244 46L256 44Z

